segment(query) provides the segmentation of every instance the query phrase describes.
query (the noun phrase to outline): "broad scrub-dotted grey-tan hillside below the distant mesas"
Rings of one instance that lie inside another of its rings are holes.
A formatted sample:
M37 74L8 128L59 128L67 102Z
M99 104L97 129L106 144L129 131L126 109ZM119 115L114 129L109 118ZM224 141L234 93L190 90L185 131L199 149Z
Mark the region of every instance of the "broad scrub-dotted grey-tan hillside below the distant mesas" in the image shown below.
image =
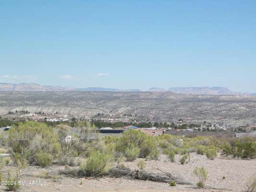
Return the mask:
M0 115L15 110L86 117L132 114L151 122L183 119L244 125L255 121L256 97L171 92L0 92Z

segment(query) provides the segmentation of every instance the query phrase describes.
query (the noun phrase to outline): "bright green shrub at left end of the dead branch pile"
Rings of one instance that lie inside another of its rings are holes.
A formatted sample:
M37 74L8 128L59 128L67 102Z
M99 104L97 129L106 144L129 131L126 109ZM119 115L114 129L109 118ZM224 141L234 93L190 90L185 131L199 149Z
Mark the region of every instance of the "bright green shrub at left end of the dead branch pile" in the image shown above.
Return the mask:
M94 151L79 168L83 176L98 177L108 171L108 160L107 154Z

